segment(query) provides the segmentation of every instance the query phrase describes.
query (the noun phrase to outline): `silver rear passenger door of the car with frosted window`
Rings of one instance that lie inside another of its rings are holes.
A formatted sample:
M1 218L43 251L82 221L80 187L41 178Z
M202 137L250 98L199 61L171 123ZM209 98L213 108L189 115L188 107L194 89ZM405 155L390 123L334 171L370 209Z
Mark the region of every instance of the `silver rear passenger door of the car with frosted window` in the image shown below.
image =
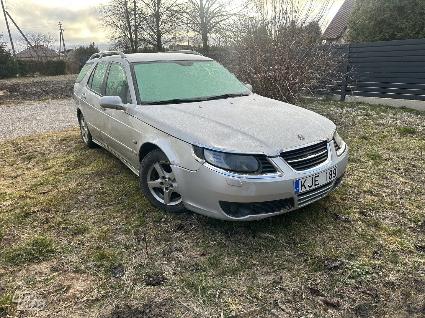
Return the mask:
M98 62L88 78L87 85L82 88L82 100L87 104L86 114L89 130L93 139L105 144L102 131L107 128L107 115L100 108L102 88L110 62Z

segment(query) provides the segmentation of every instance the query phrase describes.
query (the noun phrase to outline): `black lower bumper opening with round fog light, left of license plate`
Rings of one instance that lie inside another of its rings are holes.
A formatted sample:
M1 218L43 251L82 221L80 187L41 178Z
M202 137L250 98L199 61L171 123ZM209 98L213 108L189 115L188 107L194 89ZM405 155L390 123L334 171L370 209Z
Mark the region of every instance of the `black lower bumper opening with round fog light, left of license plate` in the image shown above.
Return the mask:
M223 209L226 214L235 218L242 218L246 215L285 212L294 208L294 198L252 203L237 203L227 201L220 201L219 203L221 209Z

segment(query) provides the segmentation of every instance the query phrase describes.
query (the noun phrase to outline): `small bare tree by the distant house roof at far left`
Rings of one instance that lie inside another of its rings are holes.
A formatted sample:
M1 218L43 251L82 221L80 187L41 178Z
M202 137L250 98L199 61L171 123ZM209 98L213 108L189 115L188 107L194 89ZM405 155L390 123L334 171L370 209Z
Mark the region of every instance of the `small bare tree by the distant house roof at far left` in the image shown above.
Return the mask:
M27 48L28 58L40 59L40 60L51 60L59 57L57 52L57 34L52 31L40 32L40 31L29 31L25 33L31 46L21 36L18 39L18 47Z

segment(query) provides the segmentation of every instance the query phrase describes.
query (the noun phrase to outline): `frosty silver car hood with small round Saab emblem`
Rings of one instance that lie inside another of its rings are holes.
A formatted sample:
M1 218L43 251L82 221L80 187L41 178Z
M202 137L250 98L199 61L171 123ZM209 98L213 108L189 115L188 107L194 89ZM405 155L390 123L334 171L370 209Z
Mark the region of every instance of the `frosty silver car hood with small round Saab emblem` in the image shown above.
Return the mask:
M134 116L191 144L231 151L264 152L332 138L327 118L260 95L195 103L136 106ZM300 140L302 134L305 140Z

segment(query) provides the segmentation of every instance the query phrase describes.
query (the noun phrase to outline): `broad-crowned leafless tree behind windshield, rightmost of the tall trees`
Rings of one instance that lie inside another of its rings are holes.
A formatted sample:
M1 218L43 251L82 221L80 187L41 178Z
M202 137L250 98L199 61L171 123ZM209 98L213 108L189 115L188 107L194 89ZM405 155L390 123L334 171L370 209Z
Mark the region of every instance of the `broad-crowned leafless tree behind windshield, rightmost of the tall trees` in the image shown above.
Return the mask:
M201 35L204 53L209 51L208 36L223 35L228 20L241 14L246 3L234 0L185 0L178 9L178 18L190 30Z

